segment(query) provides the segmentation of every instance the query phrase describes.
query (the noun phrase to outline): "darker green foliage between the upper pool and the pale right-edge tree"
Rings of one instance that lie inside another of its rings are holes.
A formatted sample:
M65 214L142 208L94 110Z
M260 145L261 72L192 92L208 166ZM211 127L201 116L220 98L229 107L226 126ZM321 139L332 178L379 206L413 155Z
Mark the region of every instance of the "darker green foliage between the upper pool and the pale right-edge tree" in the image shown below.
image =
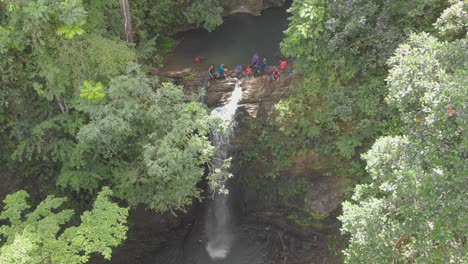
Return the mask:
M433 30L444 7L433 0L294 1L281 49L304 79L276 105L279 129L342 163L379 135L399 133L384 103L386 62L409 32Z

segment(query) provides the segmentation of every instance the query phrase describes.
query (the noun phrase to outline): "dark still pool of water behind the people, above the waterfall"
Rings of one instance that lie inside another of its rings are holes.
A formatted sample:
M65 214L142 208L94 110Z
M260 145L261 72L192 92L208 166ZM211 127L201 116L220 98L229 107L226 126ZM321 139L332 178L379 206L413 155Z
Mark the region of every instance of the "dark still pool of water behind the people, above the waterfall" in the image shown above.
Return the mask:
M288 14L283 8L271 8L261 16L236 14L225 18L224 24L213 32L191 30L176 36L179 44L166 59L168 69L192 67L215 68L224 63L228 69L250 63L257 52L260 59L266 57L270 65L281 58L279 43L286 30ZM202 62L195 64L195 57Z

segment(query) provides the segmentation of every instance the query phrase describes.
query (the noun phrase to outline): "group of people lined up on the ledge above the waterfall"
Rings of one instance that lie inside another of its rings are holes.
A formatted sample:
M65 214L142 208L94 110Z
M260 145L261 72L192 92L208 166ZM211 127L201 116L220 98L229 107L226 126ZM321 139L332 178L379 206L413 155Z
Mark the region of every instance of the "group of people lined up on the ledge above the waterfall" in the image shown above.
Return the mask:
M272 80L279 81L281 78L280 69L286 71L288 65L288 61L280 60L279 67L274 67L273 70L270 72L270 76ZM242 74L244 67L242 65L237 65L234 71L231 73L232 77L238 77ZM248 77L257 77L260 76L262 73L267 74L268 71L268 61L266 58L263 58L263 61L260 63L260 57L258 53L252 55L252 61L245 69L245 74ZM219 78L226 78L227 77L227 69L224 67L224 64L221 64L218 68L218 73L216 73L213 65L210 66L208 69L208 77L210 79L219 79Z

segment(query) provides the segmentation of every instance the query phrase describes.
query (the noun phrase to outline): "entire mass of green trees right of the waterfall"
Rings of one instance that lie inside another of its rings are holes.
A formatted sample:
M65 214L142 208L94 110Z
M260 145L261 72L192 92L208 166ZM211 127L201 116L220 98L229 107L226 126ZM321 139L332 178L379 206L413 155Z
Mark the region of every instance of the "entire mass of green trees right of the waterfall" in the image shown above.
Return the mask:
M468 261L468 3L448 2L289 10L282 49L304 81L277 105L277 124L346 166L365 153L339 217L345 263Z

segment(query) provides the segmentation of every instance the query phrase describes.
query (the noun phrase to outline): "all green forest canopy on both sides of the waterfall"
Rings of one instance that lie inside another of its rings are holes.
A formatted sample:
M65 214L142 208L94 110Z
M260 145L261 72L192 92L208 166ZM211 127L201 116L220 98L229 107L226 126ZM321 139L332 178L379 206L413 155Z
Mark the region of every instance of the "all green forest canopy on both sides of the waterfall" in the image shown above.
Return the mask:
M219 122L154 74L178 29L222 24L220 2L121 2L128 14L111 0L0 0L0 180L21 182L1 193L1 263L110 259L131 208L174 214L200 182L220 187L207 169ZM281 50L300 78L252 126L244 159L262 181L301 153L336 164L327 173L353 189L345 263L467 263L468 2L288 11Z

